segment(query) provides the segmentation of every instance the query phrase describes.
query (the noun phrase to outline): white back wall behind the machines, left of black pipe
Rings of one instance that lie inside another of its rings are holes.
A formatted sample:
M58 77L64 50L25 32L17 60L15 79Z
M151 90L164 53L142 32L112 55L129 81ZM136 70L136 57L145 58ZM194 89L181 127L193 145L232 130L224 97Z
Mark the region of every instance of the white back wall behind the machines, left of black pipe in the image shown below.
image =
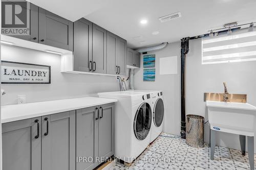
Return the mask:
M143 82L143 55L141 68L135 69L135 89L162 90L164 101L163 131L180 135L180 42L168 44L163 50L151 53L156 55L156 81ZM178 74L159 75L159 58L177 56Z

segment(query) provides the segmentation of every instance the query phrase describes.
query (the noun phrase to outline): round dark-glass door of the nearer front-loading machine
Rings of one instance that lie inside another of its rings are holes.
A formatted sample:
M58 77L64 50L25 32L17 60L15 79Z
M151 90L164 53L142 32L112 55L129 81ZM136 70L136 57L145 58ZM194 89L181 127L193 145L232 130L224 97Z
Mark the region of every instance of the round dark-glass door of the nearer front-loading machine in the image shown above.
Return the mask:
M139 140L143 140L150 133L152 122L152 110L150 104L142 103L134 118L134 134Z

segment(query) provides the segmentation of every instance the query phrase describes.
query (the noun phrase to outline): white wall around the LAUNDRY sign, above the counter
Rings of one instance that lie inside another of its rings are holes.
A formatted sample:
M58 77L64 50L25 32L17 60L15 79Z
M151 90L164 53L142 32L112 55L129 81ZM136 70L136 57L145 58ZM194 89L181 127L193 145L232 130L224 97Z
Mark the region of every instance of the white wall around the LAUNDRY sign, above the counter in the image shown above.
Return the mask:
M119 91L116 77L61 73L59 55L17 46L1 47L2 60L51 66L51 84L2 84L6 94L1 105L17 104L18 94L25 94L30 103Z

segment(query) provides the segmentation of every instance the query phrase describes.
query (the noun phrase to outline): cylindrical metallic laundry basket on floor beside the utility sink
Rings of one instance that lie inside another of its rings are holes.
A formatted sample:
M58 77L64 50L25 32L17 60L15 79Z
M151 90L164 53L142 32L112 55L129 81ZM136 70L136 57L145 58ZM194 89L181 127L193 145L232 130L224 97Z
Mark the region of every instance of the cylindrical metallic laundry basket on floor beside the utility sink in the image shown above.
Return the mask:
M190 147L204 147L204 117L188 114L186 116L186 143Z

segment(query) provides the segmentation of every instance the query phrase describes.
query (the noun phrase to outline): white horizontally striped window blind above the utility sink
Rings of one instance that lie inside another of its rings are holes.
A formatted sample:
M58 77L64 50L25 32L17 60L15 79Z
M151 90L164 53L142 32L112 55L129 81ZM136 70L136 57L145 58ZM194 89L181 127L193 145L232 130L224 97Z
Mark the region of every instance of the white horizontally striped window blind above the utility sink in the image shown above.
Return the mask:
M256 60L256 31L202 38L202 64Z

